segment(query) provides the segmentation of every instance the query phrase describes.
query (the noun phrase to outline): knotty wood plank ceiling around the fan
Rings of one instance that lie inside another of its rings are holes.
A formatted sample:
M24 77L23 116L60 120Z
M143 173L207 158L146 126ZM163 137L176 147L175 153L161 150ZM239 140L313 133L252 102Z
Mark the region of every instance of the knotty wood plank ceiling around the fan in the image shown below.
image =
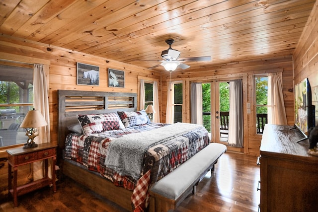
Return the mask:
M0 0L0 33L153 67L168 38L190 69L292 55L315 0ZM161 71L159 66L154 70Z

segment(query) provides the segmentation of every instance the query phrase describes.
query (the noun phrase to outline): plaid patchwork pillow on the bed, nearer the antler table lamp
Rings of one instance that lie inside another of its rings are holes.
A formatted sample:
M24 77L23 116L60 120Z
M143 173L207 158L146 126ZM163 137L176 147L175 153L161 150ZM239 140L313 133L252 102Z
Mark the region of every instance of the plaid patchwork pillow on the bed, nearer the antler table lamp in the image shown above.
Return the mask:
M77 115L77 118L85 135L125 128L117 113Z

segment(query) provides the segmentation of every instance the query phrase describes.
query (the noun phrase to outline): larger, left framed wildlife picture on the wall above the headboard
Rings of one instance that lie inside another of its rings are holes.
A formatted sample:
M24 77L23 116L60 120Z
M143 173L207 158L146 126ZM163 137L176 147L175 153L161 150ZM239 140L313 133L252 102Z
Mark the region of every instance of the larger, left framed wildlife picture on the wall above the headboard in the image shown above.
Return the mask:
M99 85L99 67L77 63L77 84L79 85Z

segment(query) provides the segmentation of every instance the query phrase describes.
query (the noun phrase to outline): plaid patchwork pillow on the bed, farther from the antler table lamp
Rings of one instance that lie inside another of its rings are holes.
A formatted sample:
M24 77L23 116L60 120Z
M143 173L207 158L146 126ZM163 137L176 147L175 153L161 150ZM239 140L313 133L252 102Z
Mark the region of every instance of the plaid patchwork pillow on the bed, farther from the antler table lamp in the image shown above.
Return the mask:
M137 112L120 111L117 113L126 128L150 123L150 119L145 110Z

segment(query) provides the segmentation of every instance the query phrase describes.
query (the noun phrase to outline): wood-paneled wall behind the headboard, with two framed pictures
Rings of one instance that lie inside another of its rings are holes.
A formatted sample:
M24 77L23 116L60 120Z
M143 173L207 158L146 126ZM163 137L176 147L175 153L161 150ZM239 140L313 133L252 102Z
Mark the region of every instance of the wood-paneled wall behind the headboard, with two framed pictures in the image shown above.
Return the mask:
M58 89L138 93L138 76L160 82L158 71L4 35L0 36L0 59L50 65L48 79L52 141L57 141L58 134ZM77 62L99 66L99 86L77 85ZM125 88L108 87L108 68L125 71Z

